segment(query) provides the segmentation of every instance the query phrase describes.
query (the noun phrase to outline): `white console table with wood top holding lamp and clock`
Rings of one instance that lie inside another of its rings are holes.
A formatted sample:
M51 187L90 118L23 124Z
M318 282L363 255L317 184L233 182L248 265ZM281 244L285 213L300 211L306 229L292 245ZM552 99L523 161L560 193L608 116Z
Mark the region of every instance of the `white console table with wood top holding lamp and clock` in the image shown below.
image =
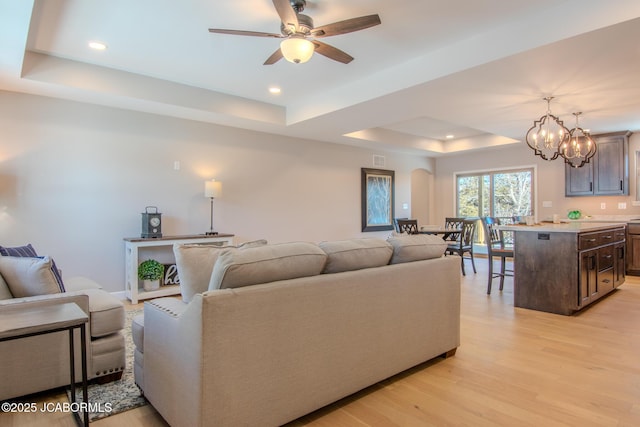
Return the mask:
M125 245L125 284L127 298L132 304L138 300L160 298L180 293L180 285L164 285L154 291L145 291L138 280L138 266L147 259L155 259L163 264L174 265L173 245L214 245L227 246L233 244L233 234L193 234L185 236L164 236L158 238L128 237Z

